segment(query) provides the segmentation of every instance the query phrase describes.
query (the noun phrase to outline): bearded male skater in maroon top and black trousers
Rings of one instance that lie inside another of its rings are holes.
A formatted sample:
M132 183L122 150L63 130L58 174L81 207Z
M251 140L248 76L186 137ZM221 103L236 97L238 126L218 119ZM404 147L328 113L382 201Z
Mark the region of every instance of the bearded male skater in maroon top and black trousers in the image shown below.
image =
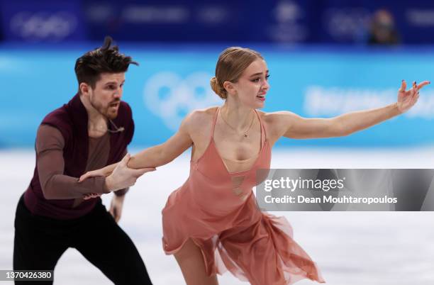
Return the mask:
M114 284L151 284L138 250L117 224L126 189L114 192L109 213L99 196L116 186L105 177L78 182L85 172L124 156L116 171L129 186L152 170L126 167L134 123L121 97L128 66L138 64L111 41L107 37L102 47L77 59L78 93L38 128L35 172L16 209L14 270L53 270L74 247Z

